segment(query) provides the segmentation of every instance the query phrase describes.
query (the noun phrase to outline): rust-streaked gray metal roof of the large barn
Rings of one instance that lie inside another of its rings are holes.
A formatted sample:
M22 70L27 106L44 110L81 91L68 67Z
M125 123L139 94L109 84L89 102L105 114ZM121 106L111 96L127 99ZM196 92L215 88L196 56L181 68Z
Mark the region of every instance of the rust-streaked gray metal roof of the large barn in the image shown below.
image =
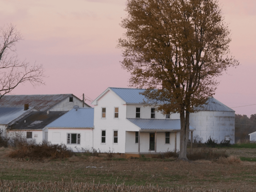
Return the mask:
M69 96L74 96L74 95L73 94L4 95L0 100L0 107L23 107L24 108L24 104L29 104L29 106L34 106L39 111L46 111Z

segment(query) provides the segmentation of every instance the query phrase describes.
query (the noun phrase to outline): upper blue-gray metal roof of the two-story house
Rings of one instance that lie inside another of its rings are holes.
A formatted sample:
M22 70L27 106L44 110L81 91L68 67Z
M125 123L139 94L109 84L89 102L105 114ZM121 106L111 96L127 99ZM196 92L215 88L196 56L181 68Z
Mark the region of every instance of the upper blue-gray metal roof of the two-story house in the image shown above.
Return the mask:
M115 92L126 103L142 103L143 99L147 101L145 96L140 94L144 92L145 89L114 88L114 87L109 87L109 88L113 92Z

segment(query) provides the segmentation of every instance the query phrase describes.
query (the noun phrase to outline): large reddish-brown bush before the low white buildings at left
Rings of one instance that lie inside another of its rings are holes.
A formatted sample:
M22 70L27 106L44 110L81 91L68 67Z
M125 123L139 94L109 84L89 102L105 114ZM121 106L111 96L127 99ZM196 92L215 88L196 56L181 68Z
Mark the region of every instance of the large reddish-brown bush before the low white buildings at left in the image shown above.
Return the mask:
M18 148L9 154L9 157L29 160L43 160L45 158L57 159L71 157L73 152L64 144L41 144L20 143Z

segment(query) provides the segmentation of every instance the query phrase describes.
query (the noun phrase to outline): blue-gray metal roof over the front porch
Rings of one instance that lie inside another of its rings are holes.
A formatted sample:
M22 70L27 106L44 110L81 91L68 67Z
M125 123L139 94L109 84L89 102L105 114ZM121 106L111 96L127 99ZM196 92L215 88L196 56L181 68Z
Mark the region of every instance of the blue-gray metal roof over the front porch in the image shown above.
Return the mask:
M141 130L180 130L180 119L132 119L127 118ZM190 130L195 130L189 126Z

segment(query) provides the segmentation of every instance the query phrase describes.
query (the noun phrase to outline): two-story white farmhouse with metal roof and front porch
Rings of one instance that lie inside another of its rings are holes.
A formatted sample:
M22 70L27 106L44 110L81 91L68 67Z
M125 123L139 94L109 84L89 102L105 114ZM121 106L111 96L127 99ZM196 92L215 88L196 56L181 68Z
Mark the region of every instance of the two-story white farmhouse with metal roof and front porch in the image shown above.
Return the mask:
M125 154L180 149L179 114L163 115L156 106L145 106L143 91L109 87L92 102L93 148Z

